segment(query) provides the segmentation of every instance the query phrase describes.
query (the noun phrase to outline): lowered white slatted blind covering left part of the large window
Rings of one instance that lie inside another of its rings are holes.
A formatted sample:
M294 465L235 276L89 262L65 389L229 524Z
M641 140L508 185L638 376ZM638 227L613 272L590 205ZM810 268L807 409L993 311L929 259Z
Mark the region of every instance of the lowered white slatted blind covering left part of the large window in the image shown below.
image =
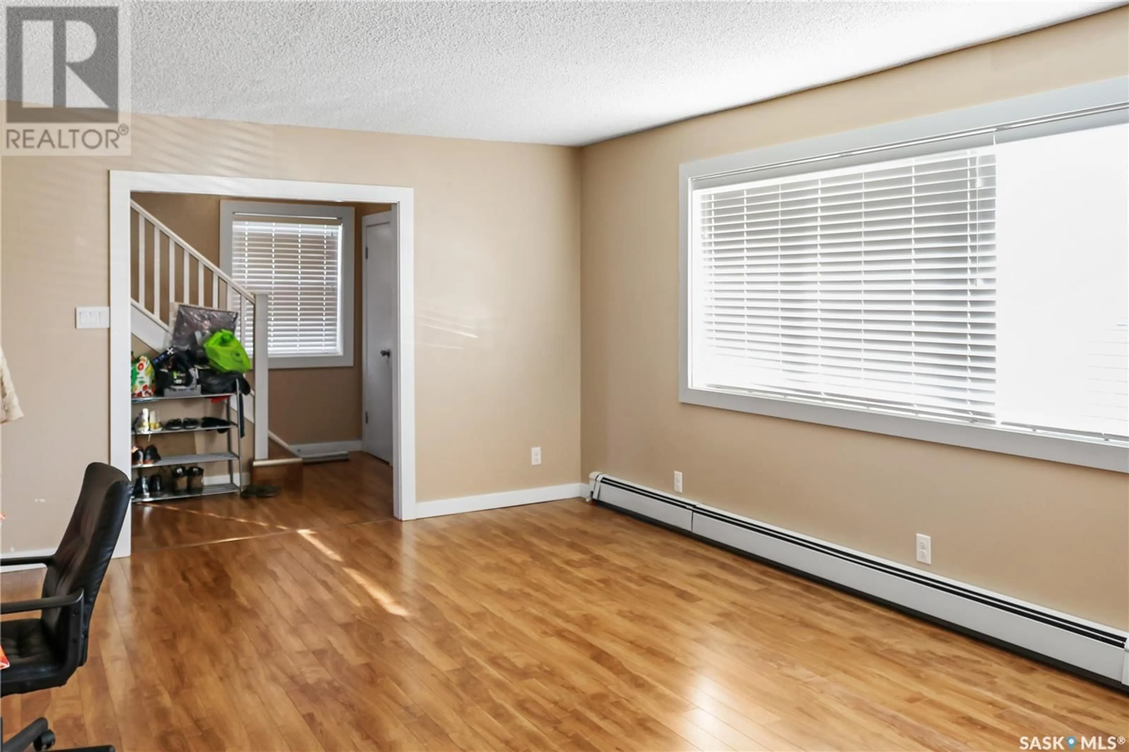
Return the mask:
M694 191L691 384L994 414L990 150Z

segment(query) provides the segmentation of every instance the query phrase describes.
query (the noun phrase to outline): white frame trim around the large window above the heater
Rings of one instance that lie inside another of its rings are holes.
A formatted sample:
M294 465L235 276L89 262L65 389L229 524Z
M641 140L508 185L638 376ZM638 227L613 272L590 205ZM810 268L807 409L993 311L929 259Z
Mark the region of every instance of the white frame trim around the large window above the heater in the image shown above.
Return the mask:
M679 400L688 404L800 420L873 434L949 444L1052 462L1129 473L1129 447L1101 439L1066 437L997 427L980 427L943 419L885 414L865 409L809 404L786 399L753 396L736 391L691 386L691 196L695 189L741 183L774 175L830 169L850 164L881 161L912 154L963 148L1008 130L1038 128L1048 133L1074 130L1066 113L1094 124L1126 122L1129 78L995 102L937 115L887 123L804 141L765 147L743 154L700 159L679 168ZM1043 122L1045 121L1045 122ZM1015 131L1017 132L1017 131ZM752 177L756 170L756 177Z

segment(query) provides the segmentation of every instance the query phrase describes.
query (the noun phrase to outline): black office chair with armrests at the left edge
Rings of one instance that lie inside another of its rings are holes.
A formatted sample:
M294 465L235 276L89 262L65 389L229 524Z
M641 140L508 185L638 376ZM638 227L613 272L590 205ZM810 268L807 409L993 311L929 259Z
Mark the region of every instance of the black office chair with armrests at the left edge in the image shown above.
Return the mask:
M90 463L59 550L50 557L0 559L5 566L47 566L43 597L0 603L0 613L41 612L38 619L0 621L0 645L11 664L0 671L0 696L62 687L86 663L94 601L130 508L130 490L121 471ZM37 718L0 743L0 752L46 750L54 743L46 718ZM113 752L112 746L84 749Z

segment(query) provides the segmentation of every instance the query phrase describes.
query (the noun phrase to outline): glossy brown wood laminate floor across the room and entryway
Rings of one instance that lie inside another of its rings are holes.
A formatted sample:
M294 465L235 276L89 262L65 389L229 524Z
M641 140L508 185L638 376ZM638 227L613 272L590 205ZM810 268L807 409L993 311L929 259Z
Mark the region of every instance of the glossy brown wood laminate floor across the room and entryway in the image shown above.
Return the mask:
M133 750L1017 750L1129 698L580 500L401 524L387 467L134 509L11 733ZM40 570L42 571L42 570ZM2 578L33 595L40 574ZM1126 747L1123 744L1121 749Z

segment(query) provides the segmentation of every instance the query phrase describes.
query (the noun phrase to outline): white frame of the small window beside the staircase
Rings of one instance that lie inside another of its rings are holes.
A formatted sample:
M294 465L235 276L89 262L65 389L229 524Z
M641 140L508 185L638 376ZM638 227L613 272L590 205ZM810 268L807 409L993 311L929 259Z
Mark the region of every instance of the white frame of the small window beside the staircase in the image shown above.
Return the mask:
M220 201L219 261L220 269L227 274L231 273L231 222L236 215L312 217L341 221L341 305L338 312L341 355L271 356L270 361L271 368L351 368L353 365L353 323L356 321L353 282L357 273L356 219L352 207L275 203L271 201Z

